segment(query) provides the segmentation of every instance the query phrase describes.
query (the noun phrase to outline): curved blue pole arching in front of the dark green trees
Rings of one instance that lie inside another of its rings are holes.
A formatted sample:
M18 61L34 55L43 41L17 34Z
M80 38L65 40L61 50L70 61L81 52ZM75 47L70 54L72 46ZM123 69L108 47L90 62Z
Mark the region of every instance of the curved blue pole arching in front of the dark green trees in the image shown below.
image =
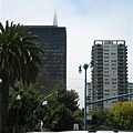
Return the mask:
M48 98L50 98L50 96L52 96L53 95L53 93L52 94L49 94L48 96L45 96L40 103L39 103L39 105L37 106L37 109L35 110L33 110L33 132L34 132L34 130L35 130L35 112L38 111L38 109L40 108L40 105L41 104L43 104L43 102L48 99ZM55 99L58 99L58 91L55 91Z

